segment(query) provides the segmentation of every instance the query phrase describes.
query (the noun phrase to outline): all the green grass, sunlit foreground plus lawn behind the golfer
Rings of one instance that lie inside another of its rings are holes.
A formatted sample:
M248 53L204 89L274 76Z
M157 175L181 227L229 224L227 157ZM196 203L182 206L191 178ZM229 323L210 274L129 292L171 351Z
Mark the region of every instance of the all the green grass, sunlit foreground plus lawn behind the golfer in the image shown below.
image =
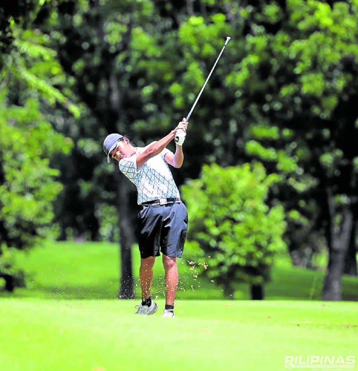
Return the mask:
M324 272L294 268L281 256L265 288L269 300L245 300L248 286L239 284L235 297L243 300L227 301L184 257L170 319L160 317L157 259L152 293L159 310L143 318L134 314L137 300L115 299L118 254L116 244L73 242L20 254L29 288L0 292L0 370L276 371L285 370L286 356L358 356L357 303L319 301ZM136 284L138 265L134 249ZM343 292L357 300L358 280L344 278Z

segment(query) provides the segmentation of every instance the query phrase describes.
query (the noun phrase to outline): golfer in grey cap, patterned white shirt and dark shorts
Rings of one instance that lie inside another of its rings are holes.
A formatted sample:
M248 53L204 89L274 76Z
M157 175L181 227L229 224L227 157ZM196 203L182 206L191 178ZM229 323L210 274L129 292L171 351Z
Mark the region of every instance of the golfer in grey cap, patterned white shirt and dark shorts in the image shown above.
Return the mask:
M182 257L188 213L168 164L176 168L182 166L182 145L187 128L188 122L183 118L168 135L146 147L134 147L120 134L110 134L103 142L108 163L111 158L118 161L119 170L137 187L138 204L142 206L137 217L142 290L142 303L136 306L137 314L151 315L158 309L150 295L150 287L155 258L162 253L166 284L162 316L174 317L178 287L176 260ZM175 153L166 148L173 139L176 142Z

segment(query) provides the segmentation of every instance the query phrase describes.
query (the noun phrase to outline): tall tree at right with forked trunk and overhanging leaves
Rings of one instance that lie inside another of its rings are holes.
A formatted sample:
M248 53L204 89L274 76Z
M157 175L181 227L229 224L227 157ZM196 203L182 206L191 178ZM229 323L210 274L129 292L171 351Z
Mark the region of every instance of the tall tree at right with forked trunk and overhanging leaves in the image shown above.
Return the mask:
M341 299L357 218L357 10L356 1L246 7L247 54L228 76L250 123L247 154L286 174L286 206L304 215L315 203L313 226L329 251L327 300Z

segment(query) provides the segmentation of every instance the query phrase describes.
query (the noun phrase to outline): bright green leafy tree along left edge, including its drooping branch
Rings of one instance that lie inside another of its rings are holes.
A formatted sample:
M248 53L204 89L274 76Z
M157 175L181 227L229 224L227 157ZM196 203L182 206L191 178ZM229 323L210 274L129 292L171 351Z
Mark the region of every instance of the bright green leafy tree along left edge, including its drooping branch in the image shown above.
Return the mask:
M55 232L53 201L62 186L50 158L71 147L71 140L53 130L41 107L61 103L77 112L53 86L61 81L53 51L42 35L25 30L24 23L21 17L17 23L8 19L10 43L0 71L0 275L10 291L22 277L13 266L11 249L29 249Z

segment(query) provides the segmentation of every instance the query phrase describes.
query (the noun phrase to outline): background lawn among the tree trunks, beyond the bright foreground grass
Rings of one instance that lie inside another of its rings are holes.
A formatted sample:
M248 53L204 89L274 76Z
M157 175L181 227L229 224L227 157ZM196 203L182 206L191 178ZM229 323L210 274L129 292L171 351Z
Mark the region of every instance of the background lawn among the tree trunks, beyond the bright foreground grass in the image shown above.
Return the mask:
M113 243L52 242L45 248L31 250L18 257L26 271L28 289L16 289L18 297L46 299L113 299L119 288L119 249ZM139 253L133 249L133 273L136 296L140 296L138 267ZM203 277L195 277L186 264L186 257L178 260L178 299L223 299L222 288ZM208 260L210 264L210 261ZM164 272L160 258L156 259L153 297L164 298ZM324 271L292 267L287 256L276 259L272 282L265 285L268 300L319 300ZM5 295L4 293L0 295ZM249 299L249 287L236 285L235 299ZM344 277L343 299L358 301L358 279Z

